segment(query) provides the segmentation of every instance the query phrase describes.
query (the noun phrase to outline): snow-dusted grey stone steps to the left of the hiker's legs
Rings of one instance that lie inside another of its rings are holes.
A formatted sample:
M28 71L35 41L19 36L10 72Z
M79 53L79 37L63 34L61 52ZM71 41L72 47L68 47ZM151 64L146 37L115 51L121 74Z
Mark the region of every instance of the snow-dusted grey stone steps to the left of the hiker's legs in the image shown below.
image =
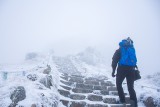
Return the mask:
M66 107L124 107L118 104L118 92L107 77L84 77L62 73L60 76L60 101ZM130 107L126 95L125 107Z

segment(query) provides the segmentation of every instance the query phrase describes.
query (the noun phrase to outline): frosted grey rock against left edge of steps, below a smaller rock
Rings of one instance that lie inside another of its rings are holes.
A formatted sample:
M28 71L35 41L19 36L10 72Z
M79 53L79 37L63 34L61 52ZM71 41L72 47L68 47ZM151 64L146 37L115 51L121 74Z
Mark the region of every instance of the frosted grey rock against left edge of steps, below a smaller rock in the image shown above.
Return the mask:
M52 76L46 75L45 78L40 80L40 83L42 83L45 87L50 88L52 86Z

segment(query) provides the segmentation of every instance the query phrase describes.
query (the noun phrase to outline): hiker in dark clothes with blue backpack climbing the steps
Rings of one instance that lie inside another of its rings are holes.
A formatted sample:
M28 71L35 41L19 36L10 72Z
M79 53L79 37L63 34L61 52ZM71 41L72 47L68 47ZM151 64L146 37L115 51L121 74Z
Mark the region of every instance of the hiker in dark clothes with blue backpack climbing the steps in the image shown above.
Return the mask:
M119 49L117 49L113 55L112 77L116 76L116 86L120 98L119 103L124 105L126 104L126 101L122 88L122 82L126 78L131 107L138 107L136 92L134 90L134 69L137 67L136 63L137 58L133 46L133 41L128 37L127 39L124 39L119 43ZM115 75L116 67L117 74Z

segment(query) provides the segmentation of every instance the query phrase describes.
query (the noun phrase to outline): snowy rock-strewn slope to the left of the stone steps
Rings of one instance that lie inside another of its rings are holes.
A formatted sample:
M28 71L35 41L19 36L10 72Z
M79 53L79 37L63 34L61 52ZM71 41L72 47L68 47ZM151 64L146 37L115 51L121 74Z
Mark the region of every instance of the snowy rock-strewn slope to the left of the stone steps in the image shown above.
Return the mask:
M42 61L28 61L22 65L6 65L1 66L1 82L0 82L0 107L8 107L12 101L10 99L11 93L17 86L23 86L26 91L26 98L20 101L17 105L23 107L31 107L35 104L37 107L52 107L52 105L58 105L59 95L57 92L57 86L59 82L59 72L55 68L52 60L49 56L46 56ZM45 61L45 62L44 62ZM31 63L32 62L32 63ZM43 74L47 64L51 65L51 73L53 86L51 89L46 88L39 81L46 76ZM23 68L23 69L19 69ZM5 77L4 72L7 73ZM34 74L37 77L36 81L31 81L27 78L29 74Z

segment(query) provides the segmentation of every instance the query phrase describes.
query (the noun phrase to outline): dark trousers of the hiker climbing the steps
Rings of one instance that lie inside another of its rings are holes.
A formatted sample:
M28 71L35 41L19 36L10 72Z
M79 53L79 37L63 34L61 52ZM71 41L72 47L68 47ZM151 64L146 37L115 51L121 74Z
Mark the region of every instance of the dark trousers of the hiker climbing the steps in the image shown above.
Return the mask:
M133 67L126 67L126 66L119 66L117 69L117 75L116 75L116 85L118 90L118 95L120 98L120 101L122 103L125 102L125 95L122 88L122 82L126 78L127 80L127 86L128 91L130 94L130 99L135 102L135 107L137 107L137 97L134 90L134 71Z

